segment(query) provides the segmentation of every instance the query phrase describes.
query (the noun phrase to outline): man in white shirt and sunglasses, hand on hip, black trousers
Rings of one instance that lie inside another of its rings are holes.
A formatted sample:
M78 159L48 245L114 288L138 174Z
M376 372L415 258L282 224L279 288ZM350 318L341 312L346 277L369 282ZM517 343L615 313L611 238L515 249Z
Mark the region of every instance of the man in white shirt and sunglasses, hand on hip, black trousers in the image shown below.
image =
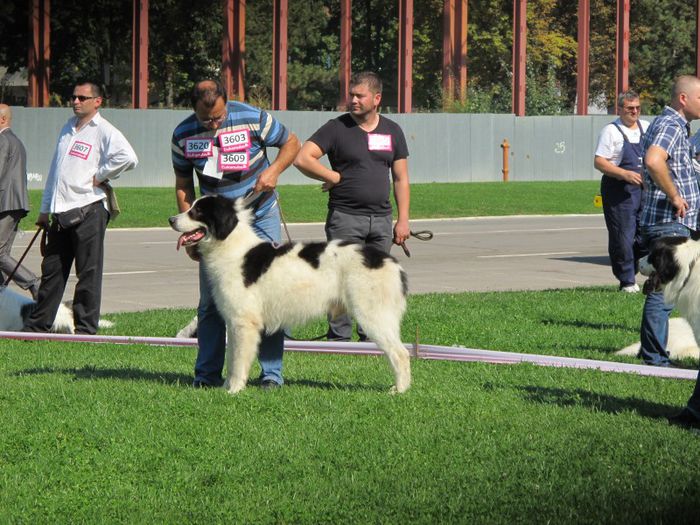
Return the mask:
M37 220L37 225L48 229L48 235L39 298L25 323L27 332L49 331L75 261L75 332L97 333L104 236L110 218L100 185L138 163L124 135L99 114L99 86L77 84L71 101L75 116L58 137Z

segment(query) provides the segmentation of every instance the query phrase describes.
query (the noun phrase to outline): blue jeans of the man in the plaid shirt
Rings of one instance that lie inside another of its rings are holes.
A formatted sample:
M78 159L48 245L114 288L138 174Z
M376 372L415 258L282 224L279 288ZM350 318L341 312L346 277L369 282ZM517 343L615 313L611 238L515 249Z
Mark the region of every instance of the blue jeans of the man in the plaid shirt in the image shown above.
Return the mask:
M661 237L690 237L690 229L678 222L664 222L642 228L642 242L649 249ZM651 292L644 301L641 326L640 354L648 365L668 366L670 364L666 343L668 342L668 319L673 310L672 304L664 302L662 292Z

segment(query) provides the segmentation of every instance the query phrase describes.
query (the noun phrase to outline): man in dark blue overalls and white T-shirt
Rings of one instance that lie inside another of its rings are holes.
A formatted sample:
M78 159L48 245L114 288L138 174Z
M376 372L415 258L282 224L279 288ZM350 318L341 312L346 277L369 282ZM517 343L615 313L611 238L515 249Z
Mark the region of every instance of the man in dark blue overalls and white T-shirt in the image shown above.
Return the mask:
M593 165L603 172L600 193L608 228L608 253L620 291L639 291L635 275L639 257L639 217L642 211L641 138L649 126L639 119L639 95L617 98L620 117L600 132Z

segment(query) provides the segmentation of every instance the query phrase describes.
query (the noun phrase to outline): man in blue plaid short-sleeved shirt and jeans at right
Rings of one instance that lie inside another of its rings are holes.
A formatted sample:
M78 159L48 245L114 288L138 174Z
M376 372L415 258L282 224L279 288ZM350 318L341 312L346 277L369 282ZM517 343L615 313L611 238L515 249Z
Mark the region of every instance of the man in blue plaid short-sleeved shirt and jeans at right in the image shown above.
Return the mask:
M690 122L700 118L700 79L681 76L673 84L671 105L649 126L642 140L642 242L648 248L660 237L690 237L698 229L700 187L690 145ZM666 351L668 319L673 305L662 292L646 297L642 313L641 349L645 363L669 366Z

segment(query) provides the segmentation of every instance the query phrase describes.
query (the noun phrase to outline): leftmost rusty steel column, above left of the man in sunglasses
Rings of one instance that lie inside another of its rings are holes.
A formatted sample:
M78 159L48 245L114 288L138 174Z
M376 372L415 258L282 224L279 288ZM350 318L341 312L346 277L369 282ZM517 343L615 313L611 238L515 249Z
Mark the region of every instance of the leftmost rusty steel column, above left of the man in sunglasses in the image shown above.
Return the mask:
M29 35L31 38L27 60L27 105L49 105L49 64L51 59L51 2L30 0Z

